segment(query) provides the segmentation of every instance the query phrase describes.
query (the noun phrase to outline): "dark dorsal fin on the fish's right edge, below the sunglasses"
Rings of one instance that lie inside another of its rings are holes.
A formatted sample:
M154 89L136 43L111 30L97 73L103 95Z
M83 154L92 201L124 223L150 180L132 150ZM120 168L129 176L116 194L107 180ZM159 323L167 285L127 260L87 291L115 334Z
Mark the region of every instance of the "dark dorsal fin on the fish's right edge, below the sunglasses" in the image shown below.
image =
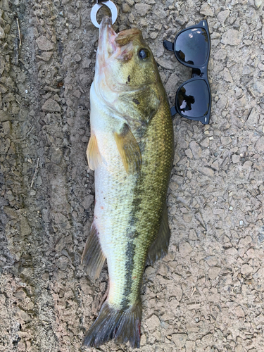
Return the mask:
M167 254L169 243L170 227L168 224L168 209L165 203L160 230L156 239L153 241L153 244L151 244L151 247L149 249L148 258L150 265L153 265L156 260L163 258Z

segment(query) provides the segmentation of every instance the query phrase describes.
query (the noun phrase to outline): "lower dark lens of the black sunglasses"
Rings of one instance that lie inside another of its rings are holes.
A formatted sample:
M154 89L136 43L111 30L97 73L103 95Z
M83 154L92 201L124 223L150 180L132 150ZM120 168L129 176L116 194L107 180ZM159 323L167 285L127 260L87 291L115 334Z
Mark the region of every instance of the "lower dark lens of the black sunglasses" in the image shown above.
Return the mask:
M210 106L210 93L203 80L194 80L184 84L177 92L178 111L186 118L206 116Z

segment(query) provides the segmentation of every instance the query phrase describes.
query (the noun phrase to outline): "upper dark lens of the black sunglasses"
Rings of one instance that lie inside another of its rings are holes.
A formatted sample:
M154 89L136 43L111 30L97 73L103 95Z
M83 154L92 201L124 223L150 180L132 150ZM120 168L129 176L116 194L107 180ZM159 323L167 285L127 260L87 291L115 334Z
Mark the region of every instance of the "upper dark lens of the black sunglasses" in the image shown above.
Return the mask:
M203 65L208 56L208 35L203 28L184 30L176 39L175 55L182 63Z

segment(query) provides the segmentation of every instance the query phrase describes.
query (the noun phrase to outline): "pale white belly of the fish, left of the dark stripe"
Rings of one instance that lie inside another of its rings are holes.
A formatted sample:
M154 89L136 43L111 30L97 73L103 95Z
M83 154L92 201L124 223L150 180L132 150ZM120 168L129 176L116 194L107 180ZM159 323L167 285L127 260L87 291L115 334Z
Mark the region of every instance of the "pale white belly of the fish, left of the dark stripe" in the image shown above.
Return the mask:
M111 116L108 110L96 99L91 87L91 132L95 134L102 162L94 172L95 208L94 223L99 232L101 248L106 256L110 278L111 295L125 282L125 251L127 248L127 229L130 225L133 191L136 178L128 175L115 142L115 126L120 118ZM123 123L123 122L122 122ZM120 297L120 300L122 298Z

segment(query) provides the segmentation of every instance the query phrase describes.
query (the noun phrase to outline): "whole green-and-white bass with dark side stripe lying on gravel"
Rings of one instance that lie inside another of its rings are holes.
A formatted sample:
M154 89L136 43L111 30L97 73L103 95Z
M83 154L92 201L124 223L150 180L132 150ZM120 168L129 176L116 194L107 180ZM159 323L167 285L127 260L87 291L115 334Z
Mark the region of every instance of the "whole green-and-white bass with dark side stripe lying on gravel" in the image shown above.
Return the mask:
M140 346L140 291L146 263L168 252L166 205L174 156L168 98L151 49L137 28L99 28L90 89L89 168L94 170L94 219L82 254L90 278L105 260L109 291L83 346Z

